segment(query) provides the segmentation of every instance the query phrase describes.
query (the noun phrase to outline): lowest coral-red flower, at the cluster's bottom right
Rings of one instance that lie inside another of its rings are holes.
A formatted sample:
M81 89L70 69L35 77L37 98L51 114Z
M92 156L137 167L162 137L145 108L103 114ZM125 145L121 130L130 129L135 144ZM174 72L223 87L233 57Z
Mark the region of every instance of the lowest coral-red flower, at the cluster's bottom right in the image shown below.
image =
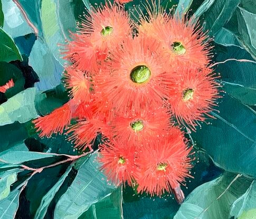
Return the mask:
M172 128L169 136L139 151L136 159L141 173L137 178L138 192L161 196L178 187L185 177L191 177L191 158L188 157L191 149L186 147L181 131Z

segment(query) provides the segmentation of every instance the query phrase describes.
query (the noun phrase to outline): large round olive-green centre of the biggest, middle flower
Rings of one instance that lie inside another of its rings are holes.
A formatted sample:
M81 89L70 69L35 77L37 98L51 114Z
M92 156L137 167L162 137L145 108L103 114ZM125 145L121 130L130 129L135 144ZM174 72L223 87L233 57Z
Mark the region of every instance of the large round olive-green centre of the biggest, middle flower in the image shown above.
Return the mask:
M146 83L150 78L151 72L145 65L138 65L131 70L130 79L134 83Z

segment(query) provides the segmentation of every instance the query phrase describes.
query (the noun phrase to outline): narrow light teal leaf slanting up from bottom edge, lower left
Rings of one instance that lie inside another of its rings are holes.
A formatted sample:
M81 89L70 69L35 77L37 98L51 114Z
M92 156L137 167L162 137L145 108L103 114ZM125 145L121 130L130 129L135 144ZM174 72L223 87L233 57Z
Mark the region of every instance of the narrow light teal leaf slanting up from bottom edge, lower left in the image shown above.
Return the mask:
M49 190L48 193L44 195L41 200L41 204L37 209L34 219L41 219L44 218L52 199L54 198L55 194L59 191L61 185L63 184L65 178L67 178L68 174L71 171L72 166L69 166L67 171L61 176L59 181Z

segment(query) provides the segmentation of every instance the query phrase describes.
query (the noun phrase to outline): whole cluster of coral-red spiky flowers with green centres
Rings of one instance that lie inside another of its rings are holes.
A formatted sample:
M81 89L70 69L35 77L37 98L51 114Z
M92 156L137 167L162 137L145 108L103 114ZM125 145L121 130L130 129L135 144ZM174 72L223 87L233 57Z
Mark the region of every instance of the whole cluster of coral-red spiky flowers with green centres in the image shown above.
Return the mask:
M40 136L65 132L81 150L101 134L107 177L161 196L191 177L192 148L181 130L210 116L219 85L197 22L146 9L139 23L120 4L84 15L63 51L70 101L34 123Z

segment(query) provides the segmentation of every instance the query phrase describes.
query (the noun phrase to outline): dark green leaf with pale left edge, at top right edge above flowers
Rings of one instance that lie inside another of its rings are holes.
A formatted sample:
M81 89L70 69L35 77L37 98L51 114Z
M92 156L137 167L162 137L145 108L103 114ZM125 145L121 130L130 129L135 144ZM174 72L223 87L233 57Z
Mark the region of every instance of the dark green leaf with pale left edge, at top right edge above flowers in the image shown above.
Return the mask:
M231 18L240 0L206 0L195 12L203 22L204 30L209 31L209 35L215 35Z

